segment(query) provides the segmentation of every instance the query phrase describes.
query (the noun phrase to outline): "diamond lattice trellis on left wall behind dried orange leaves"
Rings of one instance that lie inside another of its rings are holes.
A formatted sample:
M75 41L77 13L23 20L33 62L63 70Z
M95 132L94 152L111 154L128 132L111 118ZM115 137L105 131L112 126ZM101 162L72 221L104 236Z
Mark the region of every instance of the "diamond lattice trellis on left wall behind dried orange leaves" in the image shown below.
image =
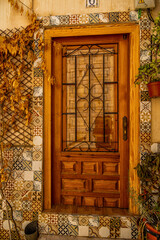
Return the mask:
M5 37L10 37L14 33L18 33L20 29L6 29L5 31L0 30L0 35ZM12 61L15 63L15 66L19 66L21 59L18 57L12 58ZM27 58L24 60L24 65L26 68L24 68L23 71L23 79L21 81L21 87L23 89L23 95L30 95L33 96L33 86L32 86L32 64L27 60ZM13 72L11 69L7 70L7 77L9 79L12 79ZM0 74L0 81L2 81L1 74ZM15 109L18 107L15 104ZM1 115L0 121L4 122L11 122L12 114L11 109L9 106L6 105L7 113L5 115ZM30 111L32 112L32 103L30 105ZM17 116L16 119L16 125L17 129L13 129L12 126L9 126L9 129L6 134L3 135L2 141L5 145L14 145L14 146L30 146L32 145L32 126L31 124L29 126L25 125L25 119L23 116Z

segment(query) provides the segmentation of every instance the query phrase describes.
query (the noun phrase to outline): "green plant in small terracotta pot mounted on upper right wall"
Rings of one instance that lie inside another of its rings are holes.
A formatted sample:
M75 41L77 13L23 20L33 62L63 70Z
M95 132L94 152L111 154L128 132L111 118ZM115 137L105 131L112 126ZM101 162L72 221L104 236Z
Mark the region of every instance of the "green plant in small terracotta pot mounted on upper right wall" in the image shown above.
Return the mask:
M135 84L145 83L150 97L160 97L160 13L154 21L151 51L152 61L139 68Z

